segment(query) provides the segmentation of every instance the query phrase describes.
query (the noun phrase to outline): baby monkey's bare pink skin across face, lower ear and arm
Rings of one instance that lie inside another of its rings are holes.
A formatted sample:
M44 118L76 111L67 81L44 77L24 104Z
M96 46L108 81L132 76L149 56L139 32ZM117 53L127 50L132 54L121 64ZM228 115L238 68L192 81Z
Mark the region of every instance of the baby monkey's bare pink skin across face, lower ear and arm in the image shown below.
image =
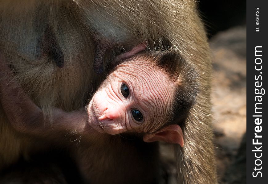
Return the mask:
M64 112L55 108L51 125L44 119L42 110L12 80L12 72L0 53L0 100L10 124L18 132L45 137L69 132L106 132L111 135L145 132L145 142L161 140L182 147L183 134L180 126L168 125L158 130L169 118L174 84L148 63L149 61L137 59L119 64L99 87L86 112L83 109ZM120 90L123 83L130 91L127 98ZM142 113L142 121L134 119L132 109Z

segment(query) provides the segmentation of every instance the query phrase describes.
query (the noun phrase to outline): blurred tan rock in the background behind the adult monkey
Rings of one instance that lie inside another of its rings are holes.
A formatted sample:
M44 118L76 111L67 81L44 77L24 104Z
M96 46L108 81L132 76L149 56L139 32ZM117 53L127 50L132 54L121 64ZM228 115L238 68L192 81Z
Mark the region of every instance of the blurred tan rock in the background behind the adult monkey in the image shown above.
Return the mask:
M213 126L218 177L222 181L246 132L246 26L216 34L211 38L210 46ZM232 183L228 181L225 183Z

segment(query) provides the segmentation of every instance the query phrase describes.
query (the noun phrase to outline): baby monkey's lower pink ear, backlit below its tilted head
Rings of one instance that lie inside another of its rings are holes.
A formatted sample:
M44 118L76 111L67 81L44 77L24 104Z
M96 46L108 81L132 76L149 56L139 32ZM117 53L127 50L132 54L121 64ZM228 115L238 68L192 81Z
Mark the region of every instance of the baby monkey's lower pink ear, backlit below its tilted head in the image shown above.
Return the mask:
M183 147L183 134L179 125L169 125L156 133L146 133L144 142L164 141L166 143L180 144Z

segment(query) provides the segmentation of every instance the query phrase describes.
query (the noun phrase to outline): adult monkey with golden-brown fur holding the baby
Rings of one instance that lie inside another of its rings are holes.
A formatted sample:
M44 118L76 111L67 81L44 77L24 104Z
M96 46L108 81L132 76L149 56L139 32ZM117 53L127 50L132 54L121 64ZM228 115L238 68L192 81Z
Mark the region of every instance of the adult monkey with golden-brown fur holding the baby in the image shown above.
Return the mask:
M95 93L95 84L105 78L107 63L122 51L145 41L151 50L180 53L198 73L199 93L180 124L184 146L176 144L178 182L217 183L209 96L211 63L194 1L0 0L0 5L2 58L26 96L51 122L55 108L65 112L83 108ZM97 48L101 44L95 40L107 45ZM93 65L96 73L100 73L102 62L104 74L96 75ZM91 82L93 85L89 85ZM40 147L46 145L46 140L19 133L19 127L13 127L14 122L8 121L3 108L0 122L0 168L44 149ZM51 126L55 128L56 124ZM76 138L77 134L73 131L66 136ZM78 165L81 171L88 171L84 176L92 183L152 182L160 167L158 144L144 143L137 134L98 134L101 136L93 137L90 146L83 141L87 140L87 134L83 134L73 143L78 144L77 149L70 152L79 154ZM50 137L55 145L67 144L57 141L54 134L46 139ZM62 135L59 133L57 138ZM126 154L131 161L124 159ZM120 173L124 175L119 177Z

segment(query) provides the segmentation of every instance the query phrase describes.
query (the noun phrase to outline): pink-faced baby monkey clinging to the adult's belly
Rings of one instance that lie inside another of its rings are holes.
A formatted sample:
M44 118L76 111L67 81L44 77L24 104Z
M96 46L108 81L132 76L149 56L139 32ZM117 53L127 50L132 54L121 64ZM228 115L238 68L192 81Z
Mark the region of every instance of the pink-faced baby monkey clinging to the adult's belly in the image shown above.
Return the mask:
M12 80L0 58L0 99L19 132L48 136L59 132L142 133L145 142L183 146L183 123L197 95L196 72L176 52L137 53L142 44L116 57L116 67L94 94L86 110L55 109L52 125L38 106ZM51 129L51 127L53 129Z

